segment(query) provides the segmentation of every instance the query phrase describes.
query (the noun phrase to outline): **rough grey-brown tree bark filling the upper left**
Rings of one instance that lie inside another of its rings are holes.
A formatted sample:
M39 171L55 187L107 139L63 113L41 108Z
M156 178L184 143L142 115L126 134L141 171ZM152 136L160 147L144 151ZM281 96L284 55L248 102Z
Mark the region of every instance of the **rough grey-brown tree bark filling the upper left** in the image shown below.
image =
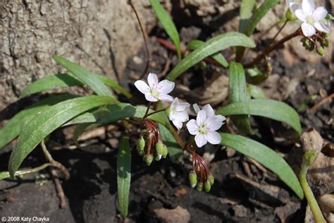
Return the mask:
M145 27L156 23L149 1L135 1ZM64 56L115 79L143 41L126 0L1 0L0 111L33 80L63 71Z

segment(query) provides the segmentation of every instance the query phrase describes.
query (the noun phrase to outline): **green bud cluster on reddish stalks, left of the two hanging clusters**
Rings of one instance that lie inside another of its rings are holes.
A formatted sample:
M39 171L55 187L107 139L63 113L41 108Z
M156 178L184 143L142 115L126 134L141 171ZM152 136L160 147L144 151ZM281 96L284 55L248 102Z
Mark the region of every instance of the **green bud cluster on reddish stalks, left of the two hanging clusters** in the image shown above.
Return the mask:
M168 150L162 143L159 128L149 119L144 119L145 129L137 141L137 152L143 157L144 162L149 166L153 160L159 161L166 158Z

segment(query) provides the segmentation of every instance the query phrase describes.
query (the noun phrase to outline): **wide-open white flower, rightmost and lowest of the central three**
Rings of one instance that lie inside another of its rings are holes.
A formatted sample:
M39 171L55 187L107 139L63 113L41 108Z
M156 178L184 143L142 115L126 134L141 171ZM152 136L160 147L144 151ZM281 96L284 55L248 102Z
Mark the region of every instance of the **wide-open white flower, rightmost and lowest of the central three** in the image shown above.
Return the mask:
M221 135L216 131L223 126L225 117L215 115L214 109L209 104L206 104L202 110L194 104L194 109L197 112L197 118L188 121L187 129L191 135L195 135L196 145L202 147L208 142L214 145L221 143Z

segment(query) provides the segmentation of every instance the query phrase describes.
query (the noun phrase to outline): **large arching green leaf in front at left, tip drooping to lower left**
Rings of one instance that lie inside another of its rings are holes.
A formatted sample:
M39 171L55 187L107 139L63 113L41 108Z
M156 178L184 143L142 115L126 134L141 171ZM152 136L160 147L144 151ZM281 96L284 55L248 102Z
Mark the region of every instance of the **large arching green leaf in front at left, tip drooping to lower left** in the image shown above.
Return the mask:
M66 100L39 112L25 128L23 128L18 143L11 153L8 169L11 176L14 175L23 159L35 149L35 147L49 135L73 117L82 112L106 104L114 104L117 100L109 96L87 96Z

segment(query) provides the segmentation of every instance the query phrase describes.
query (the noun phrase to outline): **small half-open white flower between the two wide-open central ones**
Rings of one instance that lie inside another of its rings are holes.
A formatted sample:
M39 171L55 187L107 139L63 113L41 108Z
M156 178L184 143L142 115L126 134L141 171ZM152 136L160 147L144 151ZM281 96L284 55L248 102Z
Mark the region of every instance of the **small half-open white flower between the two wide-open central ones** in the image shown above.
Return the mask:
M171 104L171 111L169 111L169 120L173 121L176 128L181 129L183 122L189 120L189 115L185 109L189 108L190 104L187 102L180 103L178 97L175 97Z

